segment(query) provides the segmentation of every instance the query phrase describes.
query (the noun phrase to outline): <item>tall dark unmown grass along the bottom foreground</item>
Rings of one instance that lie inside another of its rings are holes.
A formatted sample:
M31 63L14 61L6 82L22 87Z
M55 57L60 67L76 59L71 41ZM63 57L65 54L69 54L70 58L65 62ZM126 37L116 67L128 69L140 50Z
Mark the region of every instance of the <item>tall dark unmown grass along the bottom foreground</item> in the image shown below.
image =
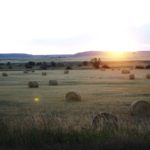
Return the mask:
M150 130L138 124L120 125L117 131L75 129L43 116L21 120L0 121L0 149L148 149Z

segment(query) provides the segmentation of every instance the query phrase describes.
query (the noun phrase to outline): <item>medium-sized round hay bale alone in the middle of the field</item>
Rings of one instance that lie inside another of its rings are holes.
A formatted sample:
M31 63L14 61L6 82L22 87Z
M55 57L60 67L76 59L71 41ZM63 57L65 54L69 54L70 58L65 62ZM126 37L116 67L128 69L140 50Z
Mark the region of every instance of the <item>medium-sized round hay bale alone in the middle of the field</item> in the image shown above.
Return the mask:
M76 92L68 92L65 99L66 101L81 101L81 96Z

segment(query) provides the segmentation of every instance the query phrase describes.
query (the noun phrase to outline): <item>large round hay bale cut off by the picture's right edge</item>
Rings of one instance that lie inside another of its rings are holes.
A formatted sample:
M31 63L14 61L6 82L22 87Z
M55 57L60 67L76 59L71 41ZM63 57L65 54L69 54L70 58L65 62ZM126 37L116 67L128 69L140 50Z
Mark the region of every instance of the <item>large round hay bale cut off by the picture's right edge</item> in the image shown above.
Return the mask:
M134 101L130 106L130 113L134 116L149 116L150 103L143 100Z

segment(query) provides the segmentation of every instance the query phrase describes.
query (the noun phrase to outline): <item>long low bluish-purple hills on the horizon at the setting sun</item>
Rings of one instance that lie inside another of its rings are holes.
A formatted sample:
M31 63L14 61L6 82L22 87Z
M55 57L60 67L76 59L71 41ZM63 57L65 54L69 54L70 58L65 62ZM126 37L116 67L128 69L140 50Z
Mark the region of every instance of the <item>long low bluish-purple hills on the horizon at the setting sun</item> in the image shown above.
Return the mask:
M150 51L136 51L126 52L128 57L123 58L124 60L150 60ZM49 58L63 58L63 60L90 60L94 57L100 57L102 60L115 60L113 56L108 55L105 51L85 51L76 53L73 55L30 55L30 54L0 54L1 60L7 59L49 59Z

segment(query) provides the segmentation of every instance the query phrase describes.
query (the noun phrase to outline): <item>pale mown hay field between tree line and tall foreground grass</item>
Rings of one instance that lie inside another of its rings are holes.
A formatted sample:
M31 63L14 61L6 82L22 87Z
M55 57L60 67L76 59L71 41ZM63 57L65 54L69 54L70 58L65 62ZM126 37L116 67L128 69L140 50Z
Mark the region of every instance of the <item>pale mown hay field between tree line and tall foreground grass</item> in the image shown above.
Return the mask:
M24 74L7 71L8 77L0 77L0 116L6 118L26 117L42 113L66 120L69 125L90 125L93 115L112 112L120 118L129 115L129 106L135 100L150 101L149 70L131 70L135 80L121 70L62 70ZM50 86L49 80L58 85ZM39 88L28 88L28 81L37 81ZM65 94L75 91L81 102L66 102Z

